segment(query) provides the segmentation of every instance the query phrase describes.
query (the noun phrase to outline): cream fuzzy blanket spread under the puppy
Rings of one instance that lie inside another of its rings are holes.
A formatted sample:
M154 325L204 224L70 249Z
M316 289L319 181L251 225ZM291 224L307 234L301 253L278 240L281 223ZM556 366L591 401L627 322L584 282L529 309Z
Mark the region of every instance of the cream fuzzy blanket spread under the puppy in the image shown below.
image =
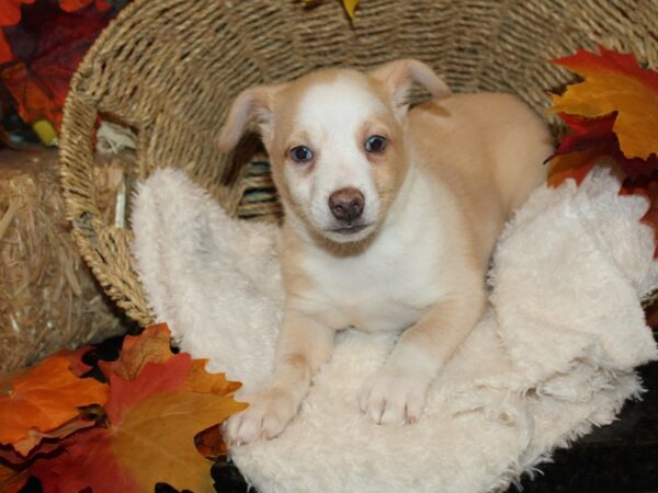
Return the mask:
M261 492L485 492L614 420L658 351L639 300L658 285L647 200L605 169L542 187L506 228L490 307L432 386L422 419L370 423L364 380L396 334L345 331L284 433L231 450ZM266 379L283 293L273 226L235 221L184 173L134 204L136 266L181 348L251 391Z

